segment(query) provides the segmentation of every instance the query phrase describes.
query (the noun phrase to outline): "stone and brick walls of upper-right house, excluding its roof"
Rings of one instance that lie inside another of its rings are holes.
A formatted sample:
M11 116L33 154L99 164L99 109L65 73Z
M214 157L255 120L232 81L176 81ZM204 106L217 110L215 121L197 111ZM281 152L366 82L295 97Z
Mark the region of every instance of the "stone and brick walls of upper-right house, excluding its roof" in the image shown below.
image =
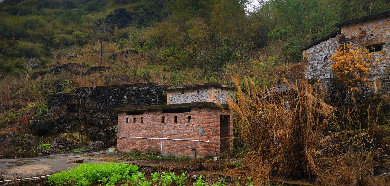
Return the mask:
M341 27L341 34L303 51L303 58L307 59L308 62L304 67L306 77L308 79L332 78L330 69L332 61L328 58L334 54L340 40L356 38L362 31L366 34L366 37L358 41L362 47L383 43L382 50L388 51L390 49L390 17L384 16L344 25ZM366 96L372 91L390 95L390 53L385 54L385 56L379 55L378 52L372 54L378 58L384 58L384 60L373 68L371 74L367 75L367 79L371 80L371 87L361 87L360 89Z

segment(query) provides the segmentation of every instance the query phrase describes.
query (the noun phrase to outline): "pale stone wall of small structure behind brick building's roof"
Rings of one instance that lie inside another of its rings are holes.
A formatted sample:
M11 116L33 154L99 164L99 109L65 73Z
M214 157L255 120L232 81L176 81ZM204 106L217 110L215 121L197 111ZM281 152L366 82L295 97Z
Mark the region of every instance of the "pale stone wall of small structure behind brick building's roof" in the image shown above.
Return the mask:
M167 91L167 104L180 104L192 102L215 102L227 104L227 99L233 91L229 88L214 86L200 88L174 89Z

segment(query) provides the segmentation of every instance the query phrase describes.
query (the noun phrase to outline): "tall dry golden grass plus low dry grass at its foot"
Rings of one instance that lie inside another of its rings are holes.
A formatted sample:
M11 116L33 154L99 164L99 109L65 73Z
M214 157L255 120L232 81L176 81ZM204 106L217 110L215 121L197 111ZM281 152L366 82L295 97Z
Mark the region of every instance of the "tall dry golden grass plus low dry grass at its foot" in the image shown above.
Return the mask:
M274 93L250 79L242 82L237 75L232 79L238 92L229 105L249 149L243 166L232 169L232 174L251 177L257 185L268 185L272 174L316 179L324 185L381 184L372 173L374 151L326 154L343 131L327 132L336 108L323 101L321 86L306 80L285 81L291 91Z

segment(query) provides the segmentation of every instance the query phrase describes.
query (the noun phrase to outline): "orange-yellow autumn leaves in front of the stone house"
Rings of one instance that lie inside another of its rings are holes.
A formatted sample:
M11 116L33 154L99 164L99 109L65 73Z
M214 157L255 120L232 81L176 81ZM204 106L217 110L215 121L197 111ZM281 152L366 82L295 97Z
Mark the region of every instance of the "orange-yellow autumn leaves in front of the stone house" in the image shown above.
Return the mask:
M384 55L387 51L381 51ZM367 75L372 72L372 68L380 63L382 58L377 58L365 47L358 47L352 43L339 45L332 57L330 68L336 75L337 82L345 83L349 91L358 92L358 87L364 85L370 87Z

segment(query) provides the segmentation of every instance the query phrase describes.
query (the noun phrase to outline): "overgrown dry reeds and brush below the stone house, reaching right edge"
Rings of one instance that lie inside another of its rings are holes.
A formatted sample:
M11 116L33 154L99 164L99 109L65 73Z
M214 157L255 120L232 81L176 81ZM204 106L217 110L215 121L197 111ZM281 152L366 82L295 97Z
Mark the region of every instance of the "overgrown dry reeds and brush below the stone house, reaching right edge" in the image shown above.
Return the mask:
M378 126L381 113L388 114L382 104L336 108L324 101L319 84L285 81L291 91L274 93L243 81L241 86L234 77L237 102L229 105L248 151L243 166L232 173L250 176L258 185L282 173L324 185L389 184L390 177L374 175L372 163L386 154L388 144Z

